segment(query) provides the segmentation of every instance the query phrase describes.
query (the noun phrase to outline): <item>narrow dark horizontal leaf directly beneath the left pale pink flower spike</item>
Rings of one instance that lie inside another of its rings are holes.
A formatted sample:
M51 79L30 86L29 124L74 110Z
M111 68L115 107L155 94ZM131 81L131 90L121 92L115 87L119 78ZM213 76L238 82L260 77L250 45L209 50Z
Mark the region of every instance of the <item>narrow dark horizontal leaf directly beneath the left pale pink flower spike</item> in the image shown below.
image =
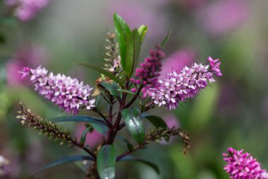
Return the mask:
M51 120L51 122L90 122L90 123L95 123L99 125L106 125L106 122L104 120L100 120L99 118L96 117L91 117L88 115L73 115L73 116L61 116L61 117L55 117Z

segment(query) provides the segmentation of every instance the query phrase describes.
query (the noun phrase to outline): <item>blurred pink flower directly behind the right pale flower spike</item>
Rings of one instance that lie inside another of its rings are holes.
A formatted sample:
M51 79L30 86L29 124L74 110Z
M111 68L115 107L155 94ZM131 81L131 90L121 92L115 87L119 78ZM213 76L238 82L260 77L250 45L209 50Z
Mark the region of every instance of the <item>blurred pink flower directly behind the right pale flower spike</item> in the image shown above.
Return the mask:
M192 64L195 57L195 51L190 48L183 48L174 52L162 62L163 66L159 79L166 79L166 74L172 71L181 71L183 67Z

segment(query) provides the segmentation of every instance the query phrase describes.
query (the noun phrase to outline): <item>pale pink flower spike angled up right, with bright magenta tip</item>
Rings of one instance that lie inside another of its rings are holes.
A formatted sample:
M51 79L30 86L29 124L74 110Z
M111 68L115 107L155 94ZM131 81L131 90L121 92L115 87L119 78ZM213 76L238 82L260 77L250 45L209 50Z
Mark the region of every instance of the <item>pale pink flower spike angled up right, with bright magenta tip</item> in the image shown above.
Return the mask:
M184 67L181 74L176 71L167 74L168 78L159 80L156 88L151 88L154 103L166 105L169 110L178 108L180 101L193 98L202 88L215 81L213 74L221 76L219 59L208 59L209 64L193 64L192 67Z

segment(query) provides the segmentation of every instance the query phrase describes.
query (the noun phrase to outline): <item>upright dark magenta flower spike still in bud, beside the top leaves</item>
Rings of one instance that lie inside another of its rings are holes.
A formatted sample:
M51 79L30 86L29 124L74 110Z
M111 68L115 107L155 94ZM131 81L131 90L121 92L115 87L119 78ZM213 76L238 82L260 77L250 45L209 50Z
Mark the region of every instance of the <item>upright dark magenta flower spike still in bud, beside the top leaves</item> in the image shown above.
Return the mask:
M131 79L136 88L132 91L137 91L138 85L142 86L142 98L152 96L152 90L157 85L160 71L162 70L161 60L164 58L164 52L157 47L157 50L150 50L151 57L147 57L145 62L140 64L140 68L135 71L135 79Z

